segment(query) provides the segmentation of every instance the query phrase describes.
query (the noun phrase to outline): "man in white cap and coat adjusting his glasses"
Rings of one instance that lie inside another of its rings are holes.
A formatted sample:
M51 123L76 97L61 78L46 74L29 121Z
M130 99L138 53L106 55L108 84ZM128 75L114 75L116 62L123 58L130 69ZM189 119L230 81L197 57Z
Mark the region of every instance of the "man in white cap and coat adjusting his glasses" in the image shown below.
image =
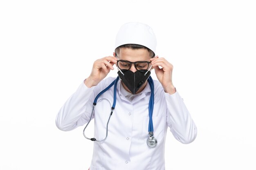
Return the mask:
M59 111L56 126L64 131L94 118L90 170L164 170L167 127L181 143L195 139L197 128L172 83L173 66L155 56L156 44L150 26L137 22L121 26L113 56L94 62L90 76ZM114 64L119 78L104 79ZM158 81L149 78L152 69ZM109 88L95 102L115 79L120 79L116 90Z

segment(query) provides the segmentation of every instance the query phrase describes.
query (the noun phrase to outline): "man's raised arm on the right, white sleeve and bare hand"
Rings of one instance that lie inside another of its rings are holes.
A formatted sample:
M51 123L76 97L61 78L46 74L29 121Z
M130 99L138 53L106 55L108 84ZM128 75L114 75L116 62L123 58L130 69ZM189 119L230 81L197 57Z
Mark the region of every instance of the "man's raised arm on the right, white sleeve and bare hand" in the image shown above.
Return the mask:
M162 84L164 91L163 102L167 107L167 125L170 127L173 136L183 144L191 143L196 135L197 128L189 110L186 108L183 99L180 97L176 88L173 86L172 73L173 65L164 58L151 58L151 64L155 69L157 79ZM161 66L162 68L159 68Z

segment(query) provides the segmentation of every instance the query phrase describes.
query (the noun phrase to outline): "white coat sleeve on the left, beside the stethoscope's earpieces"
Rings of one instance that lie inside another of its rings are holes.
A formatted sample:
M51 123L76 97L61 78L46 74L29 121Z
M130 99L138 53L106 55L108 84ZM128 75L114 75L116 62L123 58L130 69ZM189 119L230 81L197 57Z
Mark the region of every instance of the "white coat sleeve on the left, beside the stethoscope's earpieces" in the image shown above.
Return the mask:
M92 111L94 87L88 88L82 83L59 110L56 116L56 126L63 131L69 131L84 125L89 121Z

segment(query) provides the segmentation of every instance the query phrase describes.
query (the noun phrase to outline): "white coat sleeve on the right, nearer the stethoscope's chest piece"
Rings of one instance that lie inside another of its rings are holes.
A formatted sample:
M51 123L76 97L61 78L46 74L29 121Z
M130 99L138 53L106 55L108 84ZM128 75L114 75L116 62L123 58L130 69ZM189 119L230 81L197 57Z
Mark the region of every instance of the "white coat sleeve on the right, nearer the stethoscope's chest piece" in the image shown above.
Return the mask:
M175 139L182 144L189 144L195 140L197 128L183 99L176 91L170 95L164 94L167 105L167 125Z

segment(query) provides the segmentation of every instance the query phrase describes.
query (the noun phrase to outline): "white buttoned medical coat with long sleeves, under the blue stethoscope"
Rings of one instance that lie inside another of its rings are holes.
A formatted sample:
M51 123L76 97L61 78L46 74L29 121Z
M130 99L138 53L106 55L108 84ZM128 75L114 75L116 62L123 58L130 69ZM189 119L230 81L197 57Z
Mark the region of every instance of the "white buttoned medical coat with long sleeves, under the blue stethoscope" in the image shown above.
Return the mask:
M92 88L82 83L60 109L56 117L56 126L60 130L68 131L88 123L96 95L114 80L114 77L108 77ZM179 93L177 91L172 95L165 93L162 85L156 80L154 86L152 119L157 146L149 148L146 143L149 84L147 83L141 93L132 95L131 99L130 93L124 91L119 80L116 106L108 125L108 137L103 142L94 141L90 170L165 170L167 127L183 144L195 139L197 128ZM106 136L106 125L113 104L113 90L114 86L99 97L92 115L94 137L97 140L102 140ZM126 96L130 97L131 102Z

